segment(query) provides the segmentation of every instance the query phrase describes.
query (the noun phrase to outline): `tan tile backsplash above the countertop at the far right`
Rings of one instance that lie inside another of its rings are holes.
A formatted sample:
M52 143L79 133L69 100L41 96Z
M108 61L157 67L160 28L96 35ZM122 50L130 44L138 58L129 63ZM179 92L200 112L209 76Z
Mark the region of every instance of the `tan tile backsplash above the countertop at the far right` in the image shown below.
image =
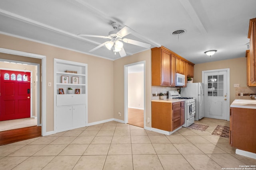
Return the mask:
M243 96L241 96L243 93ZM236 99L250 100L250 95L256 95L256 87L237 87L236 88Z

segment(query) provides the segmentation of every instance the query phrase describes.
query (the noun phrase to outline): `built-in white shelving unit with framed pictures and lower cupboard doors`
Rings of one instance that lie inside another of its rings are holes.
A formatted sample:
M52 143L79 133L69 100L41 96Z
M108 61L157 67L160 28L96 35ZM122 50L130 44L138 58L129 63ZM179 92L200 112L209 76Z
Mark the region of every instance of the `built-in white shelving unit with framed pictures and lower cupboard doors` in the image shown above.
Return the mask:
M87 80L87 64L54 59L54 131L56 133L86 126ZM68 88L72 88L71 93L68 92Z

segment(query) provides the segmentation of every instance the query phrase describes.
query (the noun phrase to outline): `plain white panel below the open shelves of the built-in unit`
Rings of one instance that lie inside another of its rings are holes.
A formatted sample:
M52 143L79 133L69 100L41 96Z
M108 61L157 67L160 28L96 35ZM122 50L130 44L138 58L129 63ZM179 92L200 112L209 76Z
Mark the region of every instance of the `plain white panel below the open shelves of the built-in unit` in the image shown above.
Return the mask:
M57 94L56 106L85 104L85 94Z

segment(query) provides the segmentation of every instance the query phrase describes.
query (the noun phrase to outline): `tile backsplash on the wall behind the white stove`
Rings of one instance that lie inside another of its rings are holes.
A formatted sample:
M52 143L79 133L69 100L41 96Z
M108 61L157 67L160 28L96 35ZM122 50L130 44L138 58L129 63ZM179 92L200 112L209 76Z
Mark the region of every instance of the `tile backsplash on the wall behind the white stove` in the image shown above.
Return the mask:
M159 94L162 92L164 98L168 98L168 91L177 90L178 87L161 87L161 86L151 86L151 100L157 100L160 98Z

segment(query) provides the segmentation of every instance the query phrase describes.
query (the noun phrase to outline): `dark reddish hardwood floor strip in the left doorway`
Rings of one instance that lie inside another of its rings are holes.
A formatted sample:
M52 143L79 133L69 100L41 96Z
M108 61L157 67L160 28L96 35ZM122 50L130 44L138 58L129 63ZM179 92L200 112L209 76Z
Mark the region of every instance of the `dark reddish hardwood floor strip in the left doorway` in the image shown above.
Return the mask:
M24 127L0 132L0 145L42 136L41 126Z

